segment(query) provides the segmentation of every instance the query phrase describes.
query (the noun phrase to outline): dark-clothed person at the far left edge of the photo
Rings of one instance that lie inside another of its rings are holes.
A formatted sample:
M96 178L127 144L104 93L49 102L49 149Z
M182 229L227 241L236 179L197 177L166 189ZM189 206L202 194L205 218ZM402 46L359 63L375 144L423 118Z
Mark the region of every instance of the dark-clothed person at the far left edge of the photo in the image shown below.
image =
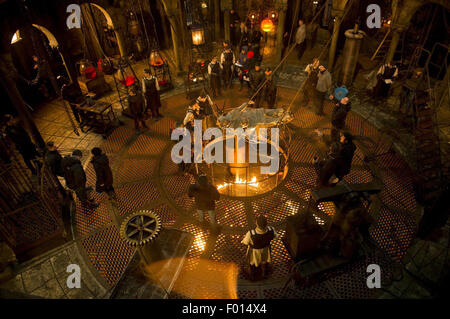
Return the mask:
M38 161L39 153L36 145L33 144L23 126L19 125L18 121L12 115L5 115L4 122L6 123L6 137L14 143L31 173L37 175L42 165Z

